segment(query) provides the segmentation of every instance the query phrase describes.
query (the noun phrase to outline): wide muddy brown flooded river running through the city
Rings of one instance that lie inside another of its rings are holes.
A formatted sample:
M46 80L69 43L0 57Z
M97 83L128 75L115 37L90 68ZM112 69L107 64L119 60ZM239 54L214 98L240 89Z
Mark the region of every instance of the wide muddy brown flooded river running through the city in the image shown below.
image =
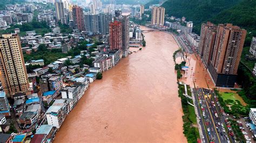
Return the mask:
M172 58L178 45L164 32L144 35L142 51L90 84L55 142L186 142Z

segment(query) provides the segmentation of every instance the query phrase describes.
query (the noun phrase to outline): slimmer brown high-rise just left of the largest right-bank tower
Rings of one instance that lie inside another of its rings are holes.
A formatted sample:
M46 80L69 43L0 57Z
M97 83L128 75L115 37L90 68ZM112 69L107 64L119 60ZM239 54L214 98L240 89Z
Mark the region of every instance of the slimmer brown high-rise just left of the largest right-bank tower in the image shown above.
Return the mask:
M199 55L207 66L212 58L216 33L217 26L215 26L213 23L207 22L201 25Z

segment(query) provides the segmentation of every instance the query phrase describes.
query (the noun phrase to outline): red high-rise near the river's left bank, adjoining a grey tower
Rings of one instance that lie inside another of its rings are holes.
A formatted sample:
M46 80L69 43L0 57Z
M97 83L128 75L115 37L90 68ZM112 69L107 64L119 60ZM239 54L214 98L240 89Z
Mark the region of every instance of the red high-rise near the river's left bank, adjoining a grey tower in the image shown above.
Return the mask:
M109 24L109 42L111 50L122 49L122 23L114 21Z

